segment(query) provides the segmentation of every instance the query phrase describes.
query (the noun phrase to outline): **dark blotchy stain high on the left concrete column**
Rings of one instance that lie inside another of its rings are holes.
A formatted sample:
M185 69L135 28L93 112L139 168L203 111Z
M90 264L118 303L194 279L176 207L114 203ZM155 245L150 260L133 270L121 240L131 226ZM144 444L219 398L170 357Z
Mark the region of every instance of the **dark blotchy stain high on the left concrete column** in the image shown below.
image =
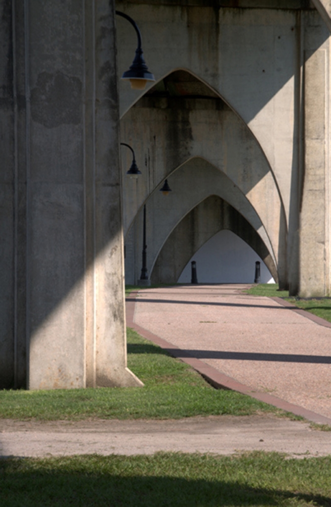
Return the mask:
M40 73L31 90L31 116L46 128L81 121L82 85L78 78L58 71Z

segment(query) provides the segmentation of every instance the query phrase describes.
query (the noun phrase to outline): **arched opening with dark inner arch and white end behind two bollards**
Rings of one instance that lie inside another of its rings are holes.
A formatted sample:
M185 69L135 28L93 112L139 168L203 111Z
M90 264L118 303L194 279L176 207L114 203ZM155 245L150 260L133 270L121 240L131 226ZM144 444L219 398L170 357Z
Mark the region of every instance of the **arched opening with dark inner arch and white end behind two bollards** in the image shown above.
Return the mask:
M201 282L231 279L251 283L256 261L265 266L264 279L277 279L275 264L261 236L241 213L217 195L195 206L169 235L155 261L152 282L190 281L189 265L195 256L199 259Z

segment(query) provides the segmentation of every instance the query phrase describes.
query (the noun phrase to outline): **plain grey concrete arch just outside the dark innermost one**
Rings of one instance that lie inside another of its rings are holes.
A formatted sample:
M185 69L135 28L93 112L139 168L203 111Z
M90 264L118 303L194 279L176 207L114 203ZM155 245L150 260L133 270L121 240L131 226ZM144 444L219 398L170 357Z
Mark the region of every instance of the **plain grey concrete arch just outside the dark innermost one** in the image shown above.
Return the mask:
M258 213L240 189L210 162L195 157L182 164L168 179L172 192L168 196L156 190L146 200L148 272L163 245L183 218L211 195L217 195L237 210L246 223L266 245L273 265L278 270L278 259L272 242ZM190 185L188 185L190 182ZM142 251L142 209L136 216L126 237L126 280L134 283L140 276ZM260 255L260 254L259 254ZM260 257L267 257L265 253ZM275 271L275 269L271 271Z

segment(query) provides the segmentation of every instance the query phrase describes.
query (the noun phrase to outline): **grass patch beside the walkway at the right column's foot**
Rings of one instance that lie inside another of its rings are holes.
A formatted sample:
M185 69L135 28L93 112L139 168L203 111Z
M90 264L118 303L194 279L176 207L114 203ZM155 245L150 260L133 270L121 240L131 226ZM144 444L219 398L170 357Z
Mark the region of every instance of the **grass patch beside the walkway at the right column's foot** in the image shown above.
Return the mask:
M289 297L288 291L278 291L278 285L276 283L261 283L248 289L246 293L254 296L268 296L269 298L278 296L289 303L293 303L298 308L307 310L308 312L331 322L331 298L300 299Z

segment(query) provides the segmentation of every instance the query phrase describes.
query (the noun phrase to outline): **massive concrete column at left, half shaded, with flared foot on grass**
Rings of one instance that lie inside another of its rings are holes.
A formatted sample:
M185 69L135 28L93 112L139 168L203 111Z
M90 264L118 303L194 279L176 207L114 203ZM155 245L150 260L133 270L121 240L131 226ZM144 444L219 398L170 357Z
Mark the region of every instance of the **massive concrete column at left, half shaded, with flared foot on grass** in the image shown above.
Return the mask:
M126 368L113 2L0 6L0 387L141 385Z

